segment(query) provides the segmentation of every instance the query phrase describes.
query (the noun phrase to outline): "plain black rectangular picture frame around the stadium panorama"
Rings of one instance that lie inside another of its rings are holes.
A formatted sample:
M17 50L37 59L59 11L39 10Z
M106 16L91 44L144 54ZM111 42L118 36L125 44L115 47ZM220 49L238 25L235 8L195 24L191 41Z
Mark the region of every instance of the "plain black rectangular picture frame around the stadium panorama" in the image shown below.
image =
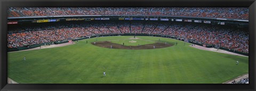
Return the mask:
M255 90L255 0L2 0L0 1L1 90ZM249 84L7 84L8 7L249 7Z

